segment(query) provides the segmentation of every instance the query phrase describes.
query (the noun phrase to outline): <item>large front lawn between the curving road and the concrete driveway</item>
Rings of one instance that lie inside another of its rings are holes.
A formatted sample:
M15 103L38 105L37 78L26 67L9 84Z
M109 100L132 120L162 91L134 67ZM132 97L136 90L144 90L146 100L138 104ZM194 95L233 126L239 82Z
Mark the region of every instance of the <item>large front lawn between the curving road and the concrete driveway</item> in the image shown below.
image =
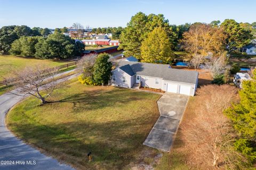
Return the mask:
M44 106L27 98L9 112L6 124L20 139L78 169L130 169L145 150L158 152L142 143L159 116L160 96L74 82Z

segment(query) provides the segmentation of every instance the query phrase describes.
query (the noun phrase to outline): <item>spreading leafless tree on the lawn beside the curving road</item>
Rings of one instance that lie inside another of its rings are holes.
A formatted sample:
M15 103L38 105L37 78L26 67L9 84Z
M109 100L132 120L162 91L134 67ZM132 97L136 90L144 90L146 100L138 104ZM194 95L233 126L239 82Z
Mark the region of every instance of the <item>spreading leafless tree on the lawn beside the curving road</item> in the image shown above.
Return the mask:
M47 103L46 99L53 93L53 91L63 86L56 77L58 69L49 68L45 66L26 67L23 70L14 70L15 81L13 78L5 78L8 84L13 84L18 90L17 92L11 92L12 94L25 96L30 94L39 99L42 104ZM43 90L43 92L42 92Z

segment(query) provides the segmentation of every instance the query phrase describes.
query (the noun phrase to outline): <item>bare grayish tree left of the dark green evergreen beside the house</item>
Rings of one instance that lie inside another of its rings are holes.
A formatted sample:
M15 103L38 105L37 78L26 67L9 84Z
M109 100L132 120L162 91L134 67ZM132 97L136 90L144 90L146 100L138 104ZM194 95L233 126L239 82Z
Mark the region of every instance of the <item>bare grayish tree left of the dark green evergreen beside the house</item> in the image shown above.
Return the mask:
M95 63L97 55L85 55L77 63L77 70L79 73L83 74L84 77L93 76L93 66Z

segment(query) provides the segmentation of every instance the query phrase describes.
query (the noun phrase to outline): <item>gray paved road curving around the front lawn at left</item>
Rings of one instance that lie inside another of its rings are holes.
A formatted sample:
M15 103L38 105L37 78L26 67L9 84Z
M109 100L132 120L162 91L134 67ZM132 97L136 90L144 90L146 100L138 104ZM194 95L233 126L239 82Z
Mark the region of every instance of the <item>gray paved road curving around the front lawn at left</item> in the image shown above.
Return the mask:
M56 76L67 74L74 70L62 72ZM74 78L72 75L68 79ZM17 93L13 90L12 93ZM5 126L4 119L6 113L22 99L26 98L11 93L0 95L0 169L73 169L68 165L60 164L56 159L45 156L38 150L30 147L17 139ZM2 160L12 161L13 165L2 165ZM24 163L22 161L25 161ZM30 161L29 165L27 161ZM35 161L35 165L34 162ZM25 165L22 165L25 164Z

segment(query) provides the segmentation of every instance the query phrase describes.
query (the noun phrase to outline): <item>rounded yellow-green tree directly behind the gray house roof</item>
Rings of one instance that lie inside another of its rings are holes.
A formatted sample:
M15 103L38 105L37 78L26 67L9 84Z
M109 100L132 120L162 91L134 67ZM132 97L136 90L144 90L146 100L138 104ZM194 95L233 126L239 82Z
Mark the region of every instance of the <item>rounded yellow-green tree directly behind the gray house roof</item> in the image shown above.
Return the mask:
M169 37L161 27L155 28L142 42L141 61L143 62L169 63L173 57Z

